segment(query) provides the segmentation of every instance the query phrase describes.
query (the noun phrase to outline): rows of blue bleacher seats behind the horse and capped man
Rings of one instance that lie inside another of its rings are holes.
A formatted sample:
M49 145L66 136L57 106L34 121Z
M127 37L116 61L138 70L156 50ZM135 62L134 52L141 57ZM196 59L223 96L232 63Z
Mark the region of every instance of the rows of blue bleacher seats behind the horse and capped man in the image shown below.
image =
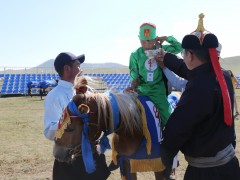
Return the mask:
M126 87L130 86L129 74L103 74L103 73L89 73L86 76L92 77L93 79L101 79L104 84L99 87L102 91L104 90L116 90L123 91ZM58 74L0 74L2 80L1 96L3 95L15 95L15 94L28 94L28 83L34 82L39 84L43 81L58 80ZM95 88L96 89L96 88ZM39 86L32 87L31 93L38 94L40 90ZM99 91L99 92L102 92Z

